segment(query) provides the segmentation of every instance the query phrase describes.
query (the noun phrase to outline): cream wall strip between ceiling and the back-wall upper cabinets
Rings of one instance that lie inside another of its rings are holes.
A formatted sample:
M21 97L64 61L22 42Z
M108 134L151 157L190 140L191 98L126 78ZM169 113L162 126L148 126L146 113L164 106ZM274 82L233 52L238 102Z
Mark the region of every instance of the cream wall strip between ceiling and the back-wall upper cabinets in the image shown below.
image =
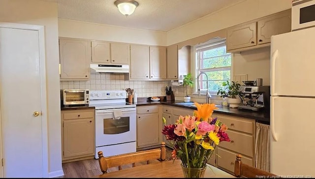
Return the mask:
M59 36L166 46L166 33L58 19Z

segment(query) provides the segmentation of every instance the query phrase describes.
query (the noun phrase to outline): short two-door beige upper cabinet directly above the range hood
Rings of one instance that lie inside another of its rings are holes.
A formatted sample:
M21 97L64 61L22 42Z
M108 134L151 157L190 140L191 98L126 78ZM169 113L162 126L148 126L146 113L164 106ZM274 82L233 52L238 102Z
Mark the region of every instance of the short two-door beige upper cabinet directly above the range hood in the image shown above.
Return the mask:
M128 43L92 41L92 63L106 65L128 65L130 61Z

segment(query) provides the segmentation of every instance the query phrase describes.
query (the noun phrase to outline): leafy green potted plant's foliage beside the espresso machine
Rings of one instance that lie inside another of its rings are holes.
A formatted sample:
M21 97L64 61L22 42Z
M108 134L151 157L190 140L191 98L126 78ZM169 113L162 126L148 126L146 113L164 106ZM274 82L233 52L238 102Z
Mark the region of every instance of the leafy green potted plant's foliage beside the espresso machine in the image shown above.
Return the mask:
M241 84L235 81L231 83L227 80L222 83L224 89L219 89L217 95L220 95L221 98L228 96L229 98L236 98L236 96L241 95L240 86Z

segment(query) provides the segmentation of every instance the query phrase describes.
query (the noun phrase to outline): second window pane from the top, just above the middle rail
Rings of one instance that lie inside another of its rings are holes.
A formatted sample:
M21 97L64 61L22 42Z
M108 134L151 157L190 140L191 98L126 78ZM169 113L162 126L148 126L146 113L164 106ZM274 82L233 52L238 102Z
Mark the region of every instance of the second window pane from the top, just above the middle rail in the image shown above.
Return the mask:
M202 60L201 69L231 66L231 55L206 58Z

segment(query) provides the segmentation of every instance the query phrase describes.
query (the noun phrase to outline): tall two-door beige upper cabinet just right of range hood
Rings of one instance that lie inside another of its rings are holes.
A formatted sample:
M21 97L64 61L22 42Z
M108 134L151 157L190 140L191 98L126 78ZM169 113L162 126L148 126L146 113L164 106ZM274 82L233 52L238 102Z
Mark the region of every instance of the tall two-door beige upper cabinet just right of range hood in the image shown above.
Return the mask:
M130 79L166 79L166 48L130 45Z

